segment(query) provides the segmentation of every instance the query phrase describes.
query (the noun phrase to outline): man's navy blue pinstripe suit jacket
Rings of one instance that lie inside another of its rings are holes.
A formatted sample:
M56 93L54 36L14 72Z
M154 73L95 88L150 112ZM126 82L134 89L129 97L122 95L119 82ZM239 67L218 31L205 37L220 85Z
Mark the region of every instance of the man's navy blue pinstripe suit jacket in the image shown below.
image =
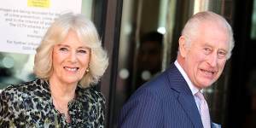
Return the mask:
M189 85L172 64L143 84L122 108L121 128L203 128Z

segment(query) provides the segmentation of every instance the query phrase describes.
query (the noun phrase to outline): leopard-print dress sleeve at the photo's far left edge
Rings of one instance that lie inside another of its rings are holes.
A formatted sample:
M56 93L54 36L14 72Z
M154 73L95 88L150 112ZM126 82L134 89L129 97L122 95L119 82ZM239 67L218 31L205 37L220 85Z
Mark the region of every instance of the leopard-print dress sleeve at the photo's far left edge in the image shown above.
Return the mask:
M0 94L0 127L24 127L26 123L21 94L8 87Z

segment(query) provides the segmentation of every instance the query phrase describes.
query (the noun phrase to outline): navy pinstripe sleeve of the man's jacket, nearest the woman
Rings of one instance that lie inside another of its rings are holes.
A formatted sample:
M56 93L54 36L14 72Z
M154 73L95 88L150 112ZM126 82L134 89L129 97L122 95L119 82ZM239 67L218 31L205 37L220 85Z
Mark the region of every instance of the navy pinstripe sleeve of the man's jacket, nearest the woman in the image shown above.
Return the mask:
M160 98L148 90L138 91L125 104L118 119L119 128L163 127Z

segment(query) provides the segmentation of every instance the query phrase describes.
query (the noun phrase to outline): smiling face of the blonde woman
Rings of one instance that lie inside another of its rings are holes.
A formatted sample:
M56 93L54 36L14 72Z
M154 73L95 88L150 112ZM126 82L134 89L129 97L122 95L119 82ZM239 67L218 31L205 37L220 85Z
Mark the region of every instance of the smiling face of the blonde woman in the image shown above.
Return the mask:
M89 66L90 49L70 30L67 37L53 49L53 73L51 79L63 84L77 84Z

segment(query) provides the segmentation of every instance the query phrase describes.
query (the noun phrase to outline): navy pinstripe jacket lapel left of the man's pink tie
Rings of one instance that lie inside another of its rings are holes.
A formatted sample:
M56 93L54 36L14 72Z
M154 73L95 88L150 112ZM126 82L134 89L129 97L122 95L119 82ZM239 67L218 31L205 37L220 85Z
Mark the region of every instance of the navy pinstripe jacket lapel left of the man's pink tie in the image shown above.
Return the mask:
M177 67L174 64L171 65L167 73L172 90L177 91L177 101L182 106L184 112L187 113L195 127L202 128L201 116L198 108L196 107L194 96L189 89L189 85L185 79L183 79L182 74L177 70Z

